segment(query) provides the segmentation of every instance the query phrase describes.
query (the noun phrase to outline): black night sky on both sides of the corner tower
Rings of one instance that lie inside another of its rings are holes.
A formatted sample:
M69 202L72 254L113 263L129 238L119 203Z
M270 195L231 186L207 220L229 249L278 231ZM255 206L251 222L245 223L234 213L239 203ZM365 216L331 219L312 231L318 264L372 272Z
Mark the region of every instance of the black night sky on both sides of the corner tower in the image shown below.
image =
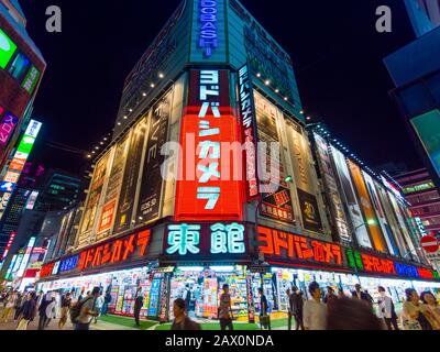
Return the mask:
M21 0L47 70L35 101L44 122L33 152L47 167L79 173L85 153L113 127L123 81L180 0ZM403 1L242 0L292 55L306 111L324 121L370 166L421 166L382 62L414 40ZM63 32L45 31L45 9L63 10ZM375 31L375 9L393 10L393 33ZM53 148L48 143L84 151Z

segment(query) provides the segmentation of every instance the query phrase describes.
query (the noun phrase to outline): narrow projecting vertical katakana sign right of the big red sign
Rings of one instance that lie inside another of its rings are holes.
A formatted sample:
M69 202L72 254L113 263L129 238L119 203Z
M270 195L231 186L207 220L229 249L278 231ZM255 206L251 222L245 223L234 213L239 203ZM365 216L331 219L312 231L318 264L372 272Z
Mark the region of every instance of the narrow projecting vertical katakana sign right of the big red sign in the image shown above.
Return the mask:
M240 94L240 123L241 138L245 143L244 169L246 170L246 195L248 201L255 199L258 195L258 178L256 169L256 118L253 99L253 87L249 76L248 65L239 70Z

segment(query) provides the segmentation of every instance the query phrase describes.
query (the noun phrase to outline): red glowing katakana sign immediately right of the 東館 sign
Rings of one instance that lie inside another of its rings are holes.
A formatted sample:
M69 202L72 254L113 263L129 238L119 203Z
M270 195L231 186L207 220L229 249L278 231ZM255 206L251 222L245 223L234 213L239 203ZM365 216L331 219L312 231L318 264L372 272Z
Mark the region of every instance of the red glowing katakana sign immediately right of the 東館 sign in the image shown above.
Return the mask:
M304 235L258 227L258 246L265 258L292 264L343 266L339 244Z

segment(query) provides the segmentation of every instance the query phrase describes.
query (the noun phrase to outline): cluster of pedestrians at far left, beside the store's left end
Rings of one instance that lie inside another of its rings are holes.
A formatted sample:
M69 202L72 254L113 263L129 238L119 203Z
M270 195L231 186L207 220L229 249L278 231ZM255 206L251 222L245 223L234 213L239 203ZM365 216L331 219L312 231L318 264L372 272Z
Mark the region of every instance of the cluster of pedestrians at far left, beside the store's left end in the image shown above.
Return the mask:
M37 320L37 329L44 330L53 319L59 318L58 329L62 330L70 318L75 330L89 330L90 323L96 323L100 315L107 315L110 300L110 293L103 294L100 287L86 294L82 290L78 297L75 297L75 290L63 294L3 290L0 294L1 321L15 321L16 330L26 330L31 321Z

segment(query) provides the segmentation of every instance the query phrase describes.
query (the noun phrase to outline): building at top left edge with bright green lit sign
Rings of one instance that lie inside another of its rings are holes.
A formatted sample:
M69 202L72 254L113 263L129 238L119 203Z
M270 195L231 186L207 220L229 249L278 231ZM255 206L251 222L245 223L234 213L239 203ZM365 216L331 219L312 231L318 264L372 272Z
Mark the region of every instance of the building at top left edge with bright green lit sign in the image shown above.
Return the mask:
M0 0L0 176L7 172L46 63L26 32L18 0Z

